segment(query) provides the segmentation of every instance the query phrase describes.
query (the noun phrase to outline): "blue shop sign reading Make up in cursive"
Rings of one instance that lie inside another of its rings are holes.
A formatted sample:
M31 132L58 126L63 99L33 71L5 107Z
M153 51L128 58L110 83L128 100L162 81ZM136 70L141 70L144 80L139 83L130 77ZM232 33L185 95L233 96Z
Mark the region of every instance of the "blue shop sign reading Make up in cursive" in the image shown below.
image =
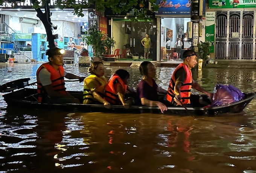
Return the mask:
M159 8L157 15L190 15L190 0L157 0ZM205 14L205 0L203 0L203 14Z

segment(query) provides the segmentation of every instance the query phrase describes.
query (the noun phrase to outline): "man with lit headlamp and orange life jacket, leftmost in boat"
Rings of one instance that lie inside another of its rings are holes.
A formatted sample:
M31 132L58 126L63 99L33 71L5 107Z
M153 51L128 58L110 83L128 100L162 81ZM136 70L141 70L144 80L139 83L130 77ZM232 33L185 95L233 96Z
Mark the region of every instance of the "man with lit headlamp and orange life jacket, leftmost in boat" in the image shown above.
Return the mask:
M42 64L37 69L37 93L38 102L43 103L80 103L79 99L71 96L65 88L64 77L67 79L79 79L85 77L76 76L64 71L63 53L59 48L46 50L49 62Z

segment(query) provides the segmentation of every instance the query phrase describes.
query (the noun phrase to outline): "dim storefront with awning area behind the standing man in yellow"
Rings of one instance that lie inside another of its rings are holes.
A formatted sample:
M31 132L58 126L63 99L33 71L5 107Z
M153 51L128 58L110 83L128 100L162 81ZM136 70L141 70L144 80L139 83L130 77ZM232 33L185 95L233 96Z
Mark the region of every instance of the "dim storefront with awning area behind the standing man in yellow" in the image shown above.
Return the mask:
M113 14L111 9L105 10L105 17L108 19L108 36L116 41L113 49L118 50L119 58L122 59L138 59L144 58L144 47L141 40L146 37L151 39L151 47L149 49L149 59L157 60L157 20L154 12L148 11L147 15L151 17L150 21L131 21L133 11L129 13L121 12L121 14ZM111 33L111 35L110 35Z

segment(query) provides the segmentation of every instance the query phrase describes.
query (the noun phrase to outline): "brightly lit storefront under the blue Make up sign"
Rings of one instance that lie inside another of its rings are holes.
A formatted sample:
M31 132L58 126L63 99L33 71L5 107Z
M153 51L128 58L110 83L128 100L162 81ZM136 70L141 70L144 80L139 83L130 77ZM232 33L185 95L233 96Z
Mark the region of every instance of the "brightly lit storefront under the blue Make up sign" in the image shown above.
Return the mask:
M184 50L191 46L191 41L187 35L187 22L190 21L190 1L179 0L157 0L159 9L156 12L158 17L158 56L157 60L182 58ZM205 1L203 1L203 11ZM204 12L203 12L204 15ZM202 23L203 37L200 41L204 42L204 17Z

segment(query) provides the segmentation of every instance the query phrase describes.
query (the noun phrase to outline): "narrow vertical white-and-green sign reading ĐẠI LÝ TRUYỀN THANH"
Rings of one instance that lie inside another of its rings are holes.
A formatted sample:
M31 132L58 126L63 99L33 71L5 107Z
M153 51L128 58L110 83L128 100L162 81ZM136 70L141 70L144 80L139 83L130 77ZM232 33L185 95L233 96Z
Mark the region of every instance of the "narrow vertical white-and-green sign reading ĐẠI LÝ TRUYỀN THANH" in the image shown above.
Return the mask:
M214 53L215 12L205 12L205 41L209 41L210 53Z

